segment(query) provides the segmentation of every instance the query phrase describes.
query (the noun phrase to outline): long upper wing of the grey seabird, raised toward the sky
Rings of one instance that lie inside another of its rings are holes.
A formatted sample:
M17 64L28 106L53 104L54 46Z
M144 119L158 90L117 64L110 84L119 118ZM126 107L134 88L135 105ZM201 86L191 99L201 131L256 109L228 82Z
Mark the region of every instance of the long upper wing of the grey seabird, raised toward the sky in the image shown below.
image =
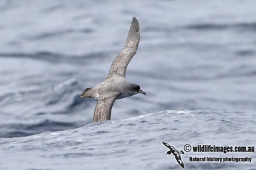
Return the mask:
M108 78L109 76L114 76L113 73L118 73L117 75L125 77L126 68L130 60L132 59L133 55L136 53L139 42L140 25L138 23L138 20L135 17L133 17L124 48L113 61L112 66L109 70Z

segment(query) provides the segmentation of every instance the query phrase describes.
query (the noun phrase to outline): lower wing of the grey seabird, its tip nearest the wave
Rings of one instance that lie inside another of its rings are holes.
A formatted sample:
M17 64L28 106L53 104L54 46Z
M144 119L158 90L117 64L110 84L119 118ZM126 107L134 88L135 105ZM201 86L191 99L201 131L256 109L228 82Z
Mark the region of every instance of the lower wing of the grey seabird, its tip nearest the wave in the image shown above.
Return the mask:
M96 105L93 122L102 122L104 120L110 120L112 106L117 96L113 96L106 99L100 99Z

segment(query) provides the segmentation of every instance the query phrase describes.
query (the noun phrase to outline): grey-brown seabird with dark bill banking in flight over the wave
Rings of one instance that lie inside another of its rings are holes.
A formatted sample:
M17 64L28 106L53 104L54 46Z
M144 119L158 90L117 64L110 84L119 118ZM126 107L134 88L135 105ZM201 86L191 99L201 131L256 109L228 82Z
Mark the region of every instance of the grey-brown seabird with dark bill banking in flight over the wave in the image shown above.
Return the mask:
M110 120L112 106L116 99L133 96L134 94L145 94L140 86L126 80L126 68L136 53L140 42L140 25L138 20L133 17L132 24L125 41L124 48L114 60L106 80L93 88L87 88L81 94L81 97L91 97L98 99L93 122L102 122Z

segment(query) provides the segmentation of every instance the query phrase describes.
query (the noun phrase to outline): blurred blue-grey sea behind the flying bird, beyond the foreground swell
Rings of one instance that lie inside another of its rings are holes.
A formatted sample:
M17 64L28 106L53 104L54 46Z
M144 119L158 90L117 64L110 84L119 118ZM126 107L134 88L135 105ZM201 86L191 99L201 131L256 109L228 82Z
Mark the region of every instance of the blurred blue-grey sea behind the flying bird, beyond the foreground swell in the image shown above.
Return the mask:
M79 96L86 87L106 78L124 46L132 17L140 22L141 40L126 75L147 96L116 101L112 120L129 121L127 118L179 108L229 111L229 117L237 119L240 117L232 113L239 111L255 120L255 5L253 0L0 1L0 138L22 137L10 139L22 143L33 138L31 134L45 131L63 131L69 136L76 130L64 130L97 129L97 124L90 124L97 101ZM233 120L228 121L232 125ZM204 129L204 124L196 125ZM237 123L239 131L243 132L244 125L255 129L253 122L243 119L240 126ZM184 133L182 129L170 131ZM228 136L221 129L218 133ZM248 134L255 139L255 133L248 130ZM220 145L223 143L228 141L223 139ZM77 169L81 169L79 165ZM215 168L214 164L206 167ZM33 166L24 166L28 168Z

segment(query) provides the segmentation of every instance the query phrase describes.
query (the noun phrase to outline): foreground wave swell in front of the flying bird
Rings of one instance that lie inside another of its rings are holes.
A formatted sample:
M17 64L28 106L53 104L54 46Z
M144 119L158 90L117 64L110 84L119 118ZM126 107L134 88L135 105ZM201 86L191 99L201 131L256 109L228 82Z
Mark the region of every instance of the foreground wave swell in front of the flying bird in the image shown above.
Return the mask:
M60 122L42 122L28 128L42 128L42 124L54 124L56 129L71 126ZM0 139L1 160L10 169L16 169L13 161L22 159L22 167L31 168L31 160L36 167L46 169L168 169L178 168L175 159L166 156L167 148L162 141L179 150L186 144L250 146L255 144L256 118L252 113L239 111L212 110L166 110L125 120L111 120L84 125L76 129L44 132L21 138ZM29 155L21 158L20 155ZM252 157L250 153L192 153L181 155L188 169L250 169L253 163L239 162L189 162L189 157ZM56 164L48 164L54 159ZM99 164L100 160L100 164ZM79 162L79 164L78 164ZM97 163L98 162L98 163ZM133 162L131 164L131 162ZM151 165L154 164L154 167ZM234 167L236 164L236 167ZM51 166L50 166L51 165Z

